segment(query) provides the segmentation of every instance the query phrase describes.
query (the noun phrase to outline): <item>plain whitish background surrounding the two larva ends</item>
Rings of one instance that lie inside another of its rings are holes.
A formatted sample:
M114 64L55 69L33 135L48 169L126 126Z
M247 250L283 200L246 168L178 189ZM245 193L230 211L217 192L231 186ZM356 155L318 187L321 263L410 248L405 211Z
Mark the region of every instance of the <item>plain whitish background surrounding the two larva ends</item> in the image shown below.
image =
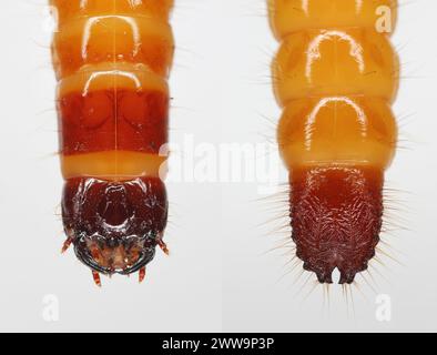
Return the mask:
M402 2L394 37L404 63L395 106L402 146L387 174L398 203L387 219L405 229L384 236L388 256L379 254L346 298L338 285L324 292L306 274L298 278L301 265L286 273L292 251L268 253L289 236L270 232L287 223L277 217L286 193L263 196L255 181L169 183L172 256L157 253L142 285L114 276L95 287L71 251L59 253L62 179L44 1L1 1L0 329L437 331L437 2ZM172 23L172 142L274 140L280 110L268 65L277 43L264 1L176 0ZM190 152L182 145L180 154ZM392 300L390 322L375 316L378 294ZM50 295L55 322L43 316Z

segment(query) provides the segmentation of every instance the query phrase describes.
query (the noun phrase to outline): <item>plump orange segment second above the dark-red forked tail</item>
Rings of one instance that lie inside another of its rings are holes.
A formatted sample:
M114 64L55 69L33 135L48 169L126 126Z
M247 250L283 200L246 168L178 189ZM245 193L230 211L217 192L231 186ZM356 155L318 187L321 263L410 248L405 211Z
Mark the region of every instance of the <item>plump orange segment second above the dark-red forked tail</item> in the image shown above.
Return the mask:
M284 38L273 62L281 105L305 97L366 95L392 102L397 55L386 36L373 30L305 30Z

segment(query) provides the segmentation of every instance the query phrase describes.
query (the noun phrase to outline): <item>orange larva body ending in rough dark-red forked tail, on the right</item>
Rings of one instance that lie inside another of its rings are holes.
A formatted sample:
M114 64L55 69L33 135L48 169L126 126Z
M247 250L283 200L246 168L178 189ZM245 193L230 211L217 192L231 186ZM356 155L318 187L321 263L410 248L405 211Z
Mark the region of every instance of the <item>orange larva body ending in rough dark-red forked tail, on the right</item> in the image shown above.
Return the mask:
M352 283L379 242L396 149L398 59L390 0L268 0L281 48L277 139L289 171L292 237L321 283Z

